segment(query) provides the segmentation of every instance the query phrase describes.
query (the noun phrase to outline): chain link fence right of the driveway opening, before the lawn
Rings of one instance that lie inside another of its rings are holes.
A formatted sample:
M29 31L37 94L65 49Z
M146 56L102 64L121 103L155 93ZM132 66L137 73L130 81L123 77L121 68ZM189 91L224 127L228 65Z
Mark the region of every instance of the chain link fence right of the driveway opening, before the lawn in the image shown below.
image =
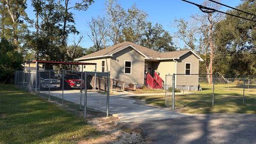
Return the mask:
M256 77L174 74L165 79L165 105L172 109L255 103Z

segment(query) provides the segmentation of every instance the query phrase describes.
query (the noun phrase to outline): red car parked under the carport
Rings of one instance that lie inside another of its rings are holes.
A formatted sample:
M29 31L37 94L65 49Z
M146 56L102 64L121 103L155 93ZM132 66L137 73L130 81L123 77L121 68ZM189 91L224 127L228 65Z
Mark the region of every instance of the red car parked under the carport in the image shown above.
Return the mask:
M65 89L71 88L82 88L84 87L84 80L81 79L81 76L76 74L66 74L64 78Z

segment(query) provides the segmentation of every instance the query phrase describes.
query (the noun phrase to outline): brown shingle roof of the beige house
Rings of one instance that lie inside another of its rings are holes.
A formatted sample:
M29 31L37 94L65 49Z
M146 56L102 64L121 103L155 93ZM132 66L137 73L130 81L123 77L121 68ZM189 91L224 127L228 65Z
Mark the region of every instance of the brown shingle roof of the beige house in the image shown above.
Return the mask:
M90 59L94 57L108 57L111 54L114 54L118 50L122 50L124 47L132 46L139 52L143 53L148 57L148 59L172 59L172 58L179 58L181 55L186 54L190 50L183 50L183 51L172 51L172 52L157 52L154 50L151 50L145 46L141 46L138 44L134 44L132 42L123 42L119 43L113 46L108 47L107 49L103 49L88 55L84 55L81 58L77 58L76 60L82 60L82 59Z

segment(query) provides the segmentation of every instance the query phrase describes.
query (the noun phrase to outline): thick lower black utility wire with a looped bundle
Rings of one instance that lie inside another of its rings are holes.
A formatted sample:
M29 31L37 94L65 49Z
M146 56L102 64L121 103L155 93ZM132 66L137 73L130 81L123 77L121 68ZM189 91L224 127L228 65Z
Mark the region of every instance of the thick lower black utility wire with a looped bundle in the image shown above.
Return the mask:
M193 4L193 5L196 5L197 7L199 7L199 9L200 9L202 12L205 12L205 13L220 12L220 13L224 13L224 14L227 14L227 15L231 15L231 16L233 16L233 17L237 17L237 18L241 18L241 19L244 19L244 20L249 20L249 21L256 22L255 20L243 18L243 17L240 17L240 16L238 16L238 15L234 15L234 14L227 13L227 12L222 12L222 11L219 11L219 10L216 10L216 9L212 9L212 8L210 8L210 7L206 7L206 6L203 6L203 5L199 5L199 4L196 4L196 3L193 3L193 2L189 2L189 1L186 1L186 0L181 0L181 1L187 2L187 3L190 3L190 4Z

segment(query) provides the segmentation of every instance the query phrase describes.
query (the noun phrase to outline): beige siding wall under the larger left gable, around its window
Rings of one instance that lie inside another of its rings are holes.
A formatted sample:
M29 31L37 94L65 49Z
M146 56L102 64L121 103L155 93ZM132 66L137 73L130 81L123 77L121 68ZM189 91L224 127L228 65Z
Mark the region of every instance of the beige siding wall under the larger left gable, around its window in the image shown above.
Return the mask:
M124 61L132 61L132 74L124 74ZM110 77L125 83L144 83L145 57L128 47L113 55L110 60Z

